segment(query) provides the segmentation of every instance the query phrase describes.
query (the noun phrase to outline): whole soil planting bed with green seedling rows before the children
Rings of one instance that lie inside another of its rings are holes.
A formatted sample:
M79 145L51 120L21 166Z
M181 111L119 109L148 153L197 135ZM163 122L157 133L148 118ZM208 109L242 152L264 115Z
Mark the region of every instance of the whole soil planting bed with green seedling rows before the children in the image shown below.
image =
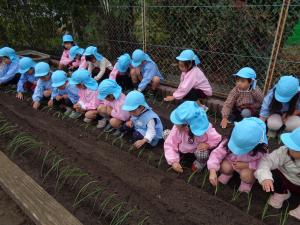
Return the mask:
M206 172L175 174L161 146L133 150L126 139L46 108L34 111L11 94L0 93L0 111L0 147L83 224L299 224L285 221L284 210L264 210L268 196L258 186L238 195L235 180L215 190ZM81 176L64 179L70 168Z

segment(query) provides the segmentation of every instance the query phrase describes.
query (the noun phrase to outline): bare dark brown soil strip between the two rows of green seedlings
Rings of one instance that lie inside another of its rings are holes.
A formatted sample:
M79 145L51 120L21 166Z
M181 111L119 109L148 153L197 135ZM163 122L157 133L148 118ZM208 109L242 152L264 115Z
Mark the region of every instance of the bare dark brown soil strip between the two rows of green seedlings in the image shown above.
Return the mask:
M18 101L11 95L0 94L0 107L6 118L16 124L20 131L26 131L55 148L66 161L89 172L105 189L117 193L120 201L138 208L141 216L149 215L145 224L262 224L245 213L247 196L229 203L232 187L221 187L216 197L209 184L204 185L205 191L199 188L203 174L195 176L187 184L187 178L191 174L189 169L180 176L166 172L168 166L165 162L160 166L157 164L162 154L159 147L153 151L146 149L142 156L136 157L137 153L131 154L124 151L124 148L121 150L99 140L97 134L100 131L85 129L72 120L59 120L46 112L34 111L28 103ZM31 163L30 159L19 159L17 163L44 188L49 189L47 185L55 183L54 179L47 184L41 183L39 172L34 172L37 169L34 168L35 163ZM259 218L267 196L261 192L256 196L256 192L260 192L258 187L254 188L250 214ZM72 210L70 199L74 193L63 193L56 194L55 198ZM95 224L93 216L85 214L86 210L76 210L74 214L83 224ZM131 219L128 224L137 224L136 220ZM270 217L266 222L278 224L279 218ZM289 219L287 224L297 222Z

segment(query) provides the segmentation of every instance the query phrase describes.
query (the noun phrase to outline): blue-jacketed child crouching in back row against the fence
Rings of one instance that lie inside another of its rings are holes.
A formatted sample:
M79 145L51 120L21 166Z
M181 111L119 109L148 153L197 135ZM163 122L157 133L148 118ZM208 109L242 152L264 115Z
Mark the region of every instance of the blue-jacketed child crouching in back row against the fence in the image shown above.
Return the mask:
M133 68L130 70L130 76L134 87L142 92L151 83L150 93L156 91L163 80L156 63L141 49L136 49L132 53L131 66Z

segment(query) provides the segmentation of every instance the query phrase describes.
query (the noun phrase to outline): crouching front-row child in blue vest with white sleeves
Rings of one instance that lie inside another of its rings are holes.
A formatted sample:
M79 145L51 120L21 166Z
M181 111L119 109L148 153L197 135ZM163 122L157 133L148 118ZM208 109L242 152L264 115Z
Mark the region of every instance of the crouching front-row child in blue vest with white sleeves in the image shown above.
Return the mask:
M122 109L131 115L126 122L133 129L134 146L139 149L146 143L155 147L162 140L163 126L158 115L146 103L144 95L139 91L131 91L125 98Z

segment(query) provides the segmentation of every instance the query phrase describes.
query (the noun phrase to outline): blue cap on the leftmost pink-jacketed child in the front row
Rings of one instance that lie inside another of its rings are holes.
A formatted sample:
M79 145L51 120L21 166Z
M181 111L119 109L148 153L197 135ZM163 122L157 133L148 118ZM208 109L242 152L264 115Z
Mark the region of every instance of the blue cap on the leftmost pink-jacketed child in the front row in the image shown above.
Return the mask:
M89 71L86 69L76 70L70 79L70 85L83 84L86 88L96 91L98 83L92 77Z

